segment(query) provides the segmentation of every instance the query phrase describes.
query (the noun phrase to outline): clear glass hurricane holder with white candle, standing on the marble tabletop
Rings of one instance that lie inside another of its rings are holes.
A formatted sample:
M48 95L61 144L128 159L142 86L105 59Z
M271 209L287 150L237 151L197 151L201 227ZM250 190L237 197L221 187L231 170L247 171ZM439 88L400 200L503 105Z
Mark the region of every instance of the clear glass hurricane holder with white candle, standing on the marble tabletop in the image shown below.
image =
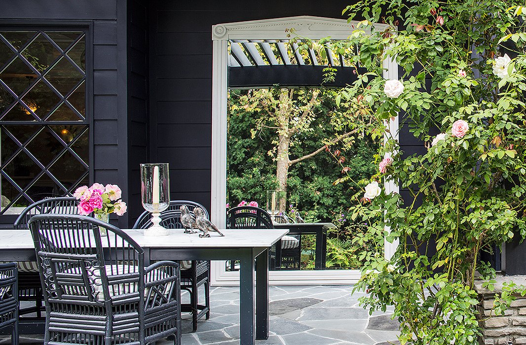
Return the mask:
M168 229L160 225L160 213L170 205L168 163L140 164L140 191L143 207L151 213L152 225L145 236L165 236Z

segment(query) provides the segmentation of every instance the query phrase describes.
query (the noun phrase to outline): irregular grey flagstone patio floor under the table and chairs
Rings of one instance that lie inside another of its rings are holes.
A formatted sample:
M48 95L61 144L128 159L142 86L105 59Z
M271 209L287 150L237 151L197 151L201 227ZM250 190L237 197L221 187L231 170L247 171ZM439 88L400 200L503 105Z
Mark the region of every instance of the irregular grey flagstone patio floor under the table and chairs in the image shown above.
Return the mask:
M397 321L390 312L369 313L351 294L352 286L273 286L269 288L270 336L268 345L373 345L398 343ZM187 298L188 296L184 296ZM215 287L210 292L210 320L200 320L191 332L191 318L183 314L183 345L239 344L239 288ZM183 299L185 302L185 299ZM0 338L0 345L10 343ZM21 336L21 344L42 344L42 337ZM158 342L171 345L173 341Z

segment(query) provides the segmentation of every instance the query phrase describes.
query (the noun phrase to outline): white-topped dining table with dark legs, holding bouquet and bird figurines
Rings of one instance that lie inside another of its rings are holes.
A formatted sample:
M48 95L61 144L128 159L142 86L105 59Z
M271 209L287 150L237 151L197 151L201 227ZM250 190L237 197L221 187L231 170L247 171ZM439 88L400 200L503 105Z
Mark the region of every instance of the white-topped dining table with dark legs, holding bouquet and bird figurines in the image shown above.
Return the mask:
M141 229L124 232L145 250L145 265L157 260L239 260L240 344L268 339L268 253L288 229L220 229L224 237L212 233L205 238L185 234L183 229L170 229L167 236L158 237L144 236ZM0 231L0 262L35 260L29 230Z

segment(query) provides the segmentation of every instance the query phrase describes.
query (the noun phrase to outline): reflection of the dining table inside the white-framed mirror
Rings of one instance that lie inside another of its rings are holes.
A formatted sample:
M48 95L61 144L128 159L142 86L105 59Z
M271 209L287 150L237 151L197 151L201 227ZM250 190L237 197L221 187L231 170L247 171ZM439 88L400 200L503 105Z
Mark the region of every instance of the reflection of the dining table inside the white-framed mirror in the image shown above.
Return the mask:
M316 235L314 269L324 269L327 255L327 230L332 223L274 223L276 229L289 229L289 235ZM281 262L281 240L276 245L276 263ZM276 266L279 266L277 264Z

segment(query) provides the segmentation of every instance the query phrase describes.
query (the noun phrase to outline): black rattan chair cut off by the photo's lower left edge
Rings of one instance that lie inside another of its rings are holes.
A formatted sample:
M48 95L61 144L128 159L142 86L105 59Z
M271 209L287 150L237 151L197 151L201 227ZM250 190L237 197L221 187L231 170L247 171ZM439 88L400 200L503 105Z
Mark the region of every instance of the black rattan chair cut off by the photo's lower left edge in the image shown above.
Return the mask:
M0 329L11 327L12 345L18 345L17 284L16 263L0 264Z

